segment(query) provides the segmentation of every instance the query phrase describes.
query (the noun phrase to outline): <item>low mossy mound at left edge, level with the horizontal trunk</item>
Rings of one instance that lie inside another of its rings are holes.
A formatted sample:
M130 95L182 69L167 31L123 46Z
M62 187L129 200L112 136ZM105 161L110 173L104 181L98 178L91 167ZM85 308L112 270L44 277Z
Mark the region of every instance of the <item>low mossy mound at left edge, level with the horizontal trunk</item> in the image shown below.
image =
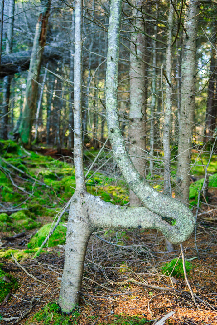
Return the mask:
M15 230L17 232L38 228L41 226L33 213L29 210L20 210L8 216L6 213L0 214L1 231Z

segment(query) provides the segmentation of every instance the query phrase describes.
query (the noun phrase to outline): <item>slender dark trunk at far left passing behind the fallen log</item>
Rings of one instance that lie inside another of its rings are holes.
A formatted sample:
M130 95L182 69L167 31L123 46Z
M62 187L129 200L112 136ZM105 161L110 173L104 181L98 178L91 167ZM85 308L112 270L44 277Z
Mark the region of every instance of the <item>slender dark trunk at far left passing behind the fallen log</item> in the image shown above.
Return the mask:
M6 48L5 53L10 54L13 44L13 29L14 29L14 5L15 0L9 0L8 2L8 19L7 19L7 34L6 34ZM2 113L5 115L1 121L0 138L7 139L8 134L8 111L9 111L9 100L10 100L10 84L12 76L4 77L3 81L3 110Z

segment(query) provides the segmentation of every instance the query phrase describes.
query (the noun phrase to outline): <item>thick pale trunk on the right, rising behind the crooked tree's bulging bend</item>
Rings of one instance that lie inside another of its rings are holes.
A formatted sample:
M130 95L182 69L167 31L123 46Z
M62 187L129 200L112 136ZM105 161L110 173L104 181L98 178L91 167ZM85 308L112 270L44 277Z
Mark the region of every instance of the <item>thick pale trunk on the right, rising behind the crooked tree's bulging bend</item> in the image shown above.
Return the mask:
M192 132L195 109L196 82L196 40L199 1L187 0L185 13L185 29L182 53L181 105L179 119L179 139L176 177L176 199L188 205L189 202L189 172L191 169Z

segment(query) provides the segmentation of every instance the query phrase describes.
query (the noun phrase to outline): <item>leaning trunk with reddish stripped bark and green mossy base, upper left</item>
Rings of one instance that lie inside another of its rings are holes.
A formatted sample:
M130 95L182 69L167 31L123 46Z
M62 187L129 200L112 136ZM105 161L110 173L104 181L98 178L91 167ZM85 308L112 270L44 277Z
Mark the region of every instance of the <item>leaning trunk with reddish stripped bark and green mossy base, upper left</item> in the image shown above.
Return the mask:
M31 131L36 110L38 95L38 80L44 50L47 23L50 13L51 0L44 2L44 10L39 15L32 47L30 69L27 77L26 94L23 103L23 114L19 127L20 140L26 149L31 148Z

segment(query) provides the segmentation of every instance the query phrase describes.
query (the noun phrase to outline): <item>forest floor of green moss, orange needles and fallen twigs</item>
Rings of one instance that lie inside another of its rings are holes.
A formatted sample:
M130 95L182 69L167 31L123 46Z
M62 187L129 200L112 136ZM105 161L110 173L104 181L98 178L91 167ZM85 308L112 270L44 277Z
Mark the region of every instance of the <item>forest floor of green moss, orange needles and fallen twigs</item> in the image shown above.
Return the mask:
M36 248L28 248L28 243L40 226L53 221L55 211L59 211L56 206L65 204L71 197L73 168L66 162L54 162L37 153L29 156L20 150L23 149L14 146L13 150L4 149L1 154L1 209L11 211L10 222L2 223L0 228L0 268L18 281L18 288L11 291L9 300L0 304L1 324L143 325L155 324L170 311L174 314L166 324L217 324L217 188L209 189L208 205L200 206L197 232L200 260L194 235L183 243L190 265L188 279L193 292L201 299L197 300L198 307L192 302L182 272L169 277L162 269L166 263L179 258L179 245L175 245L173 252L165 251L163 235L154 230L99 229L88 244L78 309L65 316L58 312L56 304L64 267L63 250L45 247L40 256L32 259ZM38 184L30 182L29 176L33 175L38 177ZM100 192L107 201L126 204L127 190L122 188L121 181L113 182L103 175L106 181L102 184L100 174L90 174L90 177L90 192L97 195ZM25 202L26 198L29 199ZM28 225L12 211L20 203ZM63 221L67 222L67 214ZM6 239L21 231L24 232L21 237ZM43 283L32 279L15 264L11 252L29 274ZM3 320L12 317L15 318Z

